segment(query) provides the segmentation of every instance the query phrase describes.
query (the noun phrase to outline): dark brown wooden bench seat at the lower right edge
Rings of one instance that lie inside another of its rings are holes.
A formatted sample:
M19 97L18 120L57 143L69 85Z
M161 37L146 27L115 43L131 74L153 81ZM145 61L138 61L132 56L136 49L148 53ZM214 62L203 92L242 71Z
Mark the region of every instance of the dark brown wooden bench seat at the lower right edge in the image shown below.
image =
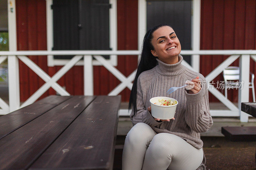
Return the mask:
M256 126L221 127L221 133L231 141L256 141Z

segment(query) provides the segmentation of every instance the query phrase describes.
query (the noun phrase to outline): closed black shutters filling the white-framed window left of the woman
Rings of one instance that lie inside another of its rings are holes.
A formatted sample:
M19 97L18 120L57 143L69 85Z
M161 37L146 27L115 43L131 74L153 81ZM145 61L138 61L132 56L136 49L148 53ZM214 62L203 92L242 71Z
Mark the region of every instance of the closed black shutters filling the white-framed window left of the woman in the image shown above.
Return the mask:
M110 50L110 7L109 0L53 0L53 50Z

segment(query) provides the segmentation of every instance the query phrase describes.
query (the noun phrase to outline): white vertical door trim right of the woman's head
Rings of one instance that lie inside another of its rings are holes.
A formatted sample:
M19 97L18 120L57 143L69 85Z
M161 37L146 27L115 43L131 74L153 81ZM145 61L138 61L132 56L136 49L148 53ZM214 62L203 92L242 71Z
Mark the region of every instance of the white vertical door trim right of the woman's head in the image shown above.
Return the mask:
M192 8L192 50L200 50L201 0L193 0ZM191 56L191 66L199 72L200 55Z

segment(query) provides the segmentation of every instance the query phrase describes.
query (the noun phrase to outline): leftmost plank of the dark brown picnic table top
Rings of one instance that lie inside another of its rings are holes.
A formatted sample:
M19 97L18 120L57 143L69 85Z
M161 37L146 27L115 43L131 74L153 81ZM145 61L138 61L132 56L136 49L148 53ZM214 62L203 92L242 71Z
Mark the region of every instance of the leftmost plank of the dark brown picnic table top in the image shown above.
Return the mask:
M36 119L71 96L48 96L0 118L0 139Z

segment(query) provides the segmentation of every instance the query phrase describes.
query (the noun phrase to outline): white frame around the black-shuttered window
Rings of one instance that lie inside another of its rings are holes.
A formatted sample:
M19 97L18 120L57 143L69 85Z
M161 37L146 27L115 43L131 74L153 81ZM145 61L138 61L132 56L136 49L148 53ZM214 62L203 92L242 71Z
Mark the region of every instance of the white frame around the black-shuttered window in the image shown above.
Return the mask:
M46 0L46 31L47 31L47 51L52 51L53 48L53 11L52 1ZM109 46L112 51L117 50L117 4L116 0L109 0L111 8L109 8ZM117 66L117 55L110 55L109 59L106 59L112 66ZM69 59L54 59L53 55L47 55L48 67L65 65L69 62ZM102 65L97 60L92 61L93 65ZM79 61L76 65L84 65L83 61Z

